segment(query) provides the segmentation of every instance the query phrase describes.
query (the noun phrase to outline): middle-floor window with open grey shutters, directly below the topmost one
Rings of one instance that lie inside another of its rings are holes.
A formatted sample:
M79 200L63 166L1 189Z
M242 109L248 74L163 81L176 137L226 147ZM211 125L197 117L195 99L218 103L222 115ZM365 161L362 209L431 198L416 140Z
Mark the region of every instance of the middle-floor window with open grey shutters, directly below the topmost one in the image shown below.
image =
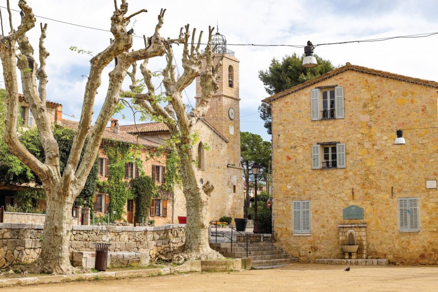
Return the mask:
M312 169L320 168L345 168L345 144L313 145Z

